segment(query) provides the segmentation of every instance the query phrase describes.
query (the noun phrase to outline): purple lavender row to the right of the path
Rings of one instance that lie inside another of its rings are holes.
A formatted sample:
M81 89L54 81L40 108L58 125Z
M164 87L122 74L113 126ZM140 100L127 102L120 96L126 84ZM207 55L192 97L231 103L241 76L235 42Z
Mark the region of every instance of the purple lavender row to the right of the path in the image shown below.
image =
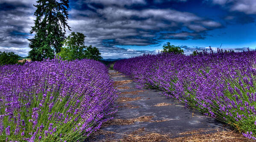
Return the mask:
M114 69L256 139L256 51L143 55Z

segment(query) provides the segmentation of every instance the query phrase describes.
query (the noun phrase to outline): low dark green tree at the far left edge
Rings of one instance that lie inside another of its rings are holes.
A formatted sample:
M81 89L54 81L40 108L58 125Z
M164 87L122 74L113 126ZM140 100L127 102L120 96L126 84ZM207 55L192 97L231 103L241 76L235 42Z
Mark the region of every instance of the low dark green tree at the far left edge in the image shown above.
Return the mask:
M17 64L19 55L13 52L1 52L0 51L0 65Z

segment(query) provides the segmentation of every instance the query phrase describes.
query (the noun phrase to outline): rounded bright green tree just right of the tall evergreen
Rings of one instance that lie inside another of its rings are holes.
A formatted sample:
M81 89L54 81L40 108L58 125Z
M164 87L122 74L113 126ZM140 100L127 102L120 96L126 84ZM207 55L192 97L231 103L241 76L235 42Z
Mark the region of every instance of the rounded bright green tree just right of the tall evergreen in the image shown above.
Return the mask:
M57 54L63 60L76 60L76 59L93 59L101 60L100 51L96 47L85 46L85 35L82 33L72 32L64 41L64 47Z

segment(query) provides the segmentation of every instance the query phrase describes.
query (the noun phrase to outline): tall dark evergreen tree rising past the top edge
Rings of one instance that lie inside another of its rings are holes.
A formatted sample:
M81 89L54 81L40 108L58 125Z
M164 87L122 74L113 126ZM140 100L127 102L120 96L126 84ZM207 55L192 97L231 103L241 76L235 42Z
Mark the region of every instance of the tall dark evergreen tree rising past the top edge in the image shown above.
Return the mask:
M69 0L38 0L35 26L30 34L35 33L29 39L29 58L33 61L41 61L44 58L53 58L54 54L60 52L62 42L65 40L65 28L68 26Z

